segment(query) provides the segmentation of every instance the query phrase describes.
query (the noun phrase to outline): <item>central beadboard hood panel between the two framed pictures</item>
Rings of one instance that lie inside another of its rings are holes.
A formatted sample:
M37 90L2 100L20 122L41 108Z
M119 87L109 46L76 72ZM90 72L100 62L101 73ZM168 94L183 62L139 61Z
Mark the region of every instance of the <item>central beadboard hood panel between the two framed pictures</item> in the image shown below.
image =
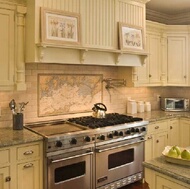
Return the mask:
M82 41L85 47L114 49L115 1L83 0L81 4Z

